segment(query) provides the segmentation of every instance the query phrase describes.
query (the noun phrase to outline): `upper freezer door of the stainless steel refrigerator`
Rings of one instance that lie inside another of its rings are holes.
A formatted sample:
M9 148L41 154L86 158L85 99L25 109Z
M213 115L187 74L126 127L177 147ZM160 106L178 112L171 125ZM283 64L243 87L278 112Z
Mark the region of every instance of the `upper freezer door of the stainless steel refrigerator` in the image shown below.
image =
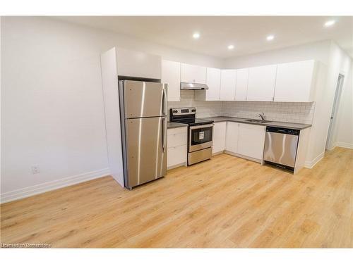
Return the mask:
M125 118L167 115L167 84L131 80L121 82L123 85L119 85L119 89L124 90Z

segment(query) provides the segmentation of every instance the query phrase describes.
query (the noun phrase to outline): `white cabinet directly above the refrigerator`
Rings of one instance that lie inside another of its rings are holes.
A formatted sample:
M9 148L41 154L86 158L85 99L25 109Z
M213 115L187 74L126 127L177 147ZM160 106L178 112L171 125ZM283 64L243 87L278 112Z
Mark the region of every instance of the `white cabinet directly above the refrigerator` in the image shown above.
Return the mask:
M162 58L140 51L116 48L118 75L161 79Z

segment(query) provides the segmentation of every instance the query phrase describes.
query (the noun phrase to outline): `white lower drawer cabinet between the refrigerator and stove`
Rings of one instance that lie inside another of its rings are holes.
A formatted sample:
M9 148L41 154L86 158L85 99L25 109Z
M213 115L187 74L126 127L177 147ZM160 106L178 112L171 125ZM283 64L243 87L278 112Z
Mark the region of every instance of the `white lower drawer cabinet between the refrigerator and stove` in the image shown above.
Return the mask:
M187 159L187 127L169 128L167 137L167 168L186 164Z

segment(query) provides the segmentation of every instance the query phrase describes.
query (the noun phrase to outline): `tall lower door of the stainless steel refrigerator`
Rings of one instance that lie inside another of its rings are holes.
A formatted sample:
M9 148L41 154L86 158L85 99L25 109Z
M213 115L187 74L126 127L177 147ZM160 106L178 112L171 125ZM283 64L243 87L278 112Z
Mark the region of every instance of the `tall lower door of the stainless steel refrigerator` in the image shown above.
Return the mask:
M126 119L125 187L150 182L167 173L167 118Z

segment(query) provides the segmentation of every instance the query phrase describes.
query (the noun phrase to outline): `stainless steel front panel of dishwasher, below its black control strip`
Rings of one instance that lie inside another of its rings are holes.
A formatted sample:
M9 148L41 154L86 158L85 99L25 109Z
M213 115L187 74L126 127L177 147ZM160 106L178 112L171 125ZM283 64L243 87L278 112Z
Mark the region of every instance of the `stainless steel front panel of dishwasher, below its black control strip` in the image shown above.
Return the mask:
M298 140L294 134L266 132L263 160L294 168Z

